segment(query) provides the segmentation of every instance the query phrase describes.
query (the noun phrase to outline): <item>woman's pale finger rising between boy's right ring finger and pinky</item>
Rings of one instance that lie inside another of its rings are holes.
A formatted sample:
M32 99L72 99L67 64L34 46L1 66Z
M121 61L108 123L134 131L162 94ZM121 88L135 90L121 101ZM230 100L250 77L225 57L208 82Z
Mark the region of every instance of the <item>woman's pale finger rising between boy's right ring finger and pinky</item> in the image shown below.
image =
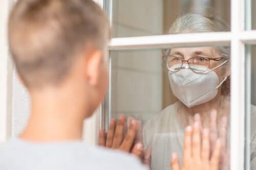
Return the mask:
M212 110L210 113L210 145L214 146L217 139L218 139L217 111Z

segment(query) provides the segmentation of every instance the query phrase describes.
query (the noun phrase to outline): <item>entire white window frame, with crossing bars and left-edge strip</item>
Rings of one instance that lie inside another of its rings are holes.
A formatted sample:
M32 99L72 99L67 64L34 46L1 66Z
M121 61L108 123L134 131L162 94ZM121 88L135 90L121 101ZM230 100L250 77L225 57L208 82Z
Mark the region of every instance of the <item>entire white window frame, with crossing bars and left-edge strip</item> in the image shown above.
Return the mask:
M103 8L104 2L111 0L95 0ZM7 19L12 1L0 0L0 141L10 137L11 132L11 96L12 96L12 62L9 58L7 43ZM244 137L245 137L245 44L256 43L256 31L245 31L245 0L231 0L231 31L216 33L196 33L182 35L159 35L144 37L113 38L110 50L134 50L142 48L197 46L197 45L229 45L231 44L231 124L230 124L230 168L244 169ZM111 9L110 9L110 18ZM249 14L251 15L251 14ZM111 19L110 19L111 20ZM4 29L2 29L4 28ZM3 38L4 37L4 38ZM109 66L111 70L111 65ZM109 98L106 99L108 101ZM110 101L110 100L109 100ZM97 142L99 128L110 107L102 103L97 114L88 120L85 138L90 143ZM109 114L108 114L109 115Z

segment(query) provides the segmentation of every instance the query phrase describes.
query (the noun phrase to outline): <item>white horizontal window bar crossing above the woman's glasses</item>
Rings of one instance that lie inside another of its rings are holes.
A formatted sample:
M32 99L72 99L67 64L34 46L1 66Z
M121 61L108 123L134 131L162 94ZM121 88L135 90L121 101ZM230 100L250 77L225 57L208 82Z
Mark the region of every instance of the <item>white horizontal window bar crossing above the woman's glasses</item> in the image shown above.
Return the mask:
M186 47L206 45L229 45L230 32L172 34L144 37L113 38L110 50L134 50L157 47Z

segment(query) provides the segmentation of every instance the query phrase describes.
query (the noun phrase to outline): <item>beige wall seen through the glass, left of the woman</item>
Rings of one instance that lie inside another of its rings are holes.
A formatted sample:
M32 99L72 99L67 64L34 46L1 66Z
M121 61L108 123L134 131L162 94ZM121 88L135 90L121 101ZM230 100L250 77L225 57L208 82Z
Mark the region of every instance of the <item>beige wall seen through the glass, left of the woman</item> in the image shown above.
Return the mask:
M163 1L113 1L115 37L163 34ZM112 117L146 120L162 109L161 50L112 52Z

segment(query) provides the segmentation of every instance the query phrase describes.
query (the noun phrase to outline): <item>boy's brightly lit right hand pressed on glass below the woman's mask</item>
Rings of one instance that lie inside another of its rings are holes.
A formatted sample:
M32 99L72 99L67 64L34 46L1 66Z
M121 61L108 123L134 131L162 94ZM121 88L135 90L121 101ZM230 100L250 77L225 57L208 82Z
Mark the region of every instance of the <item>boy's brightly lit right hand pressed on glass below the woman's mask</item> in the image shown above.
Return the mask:
M216 140L210 157L209 130L204 129L201 135L200 123L195 122L193 128L188 126L185 130L182 167L176 153L172 155L170 166L172 170L218 170L220 155L221 140Z

